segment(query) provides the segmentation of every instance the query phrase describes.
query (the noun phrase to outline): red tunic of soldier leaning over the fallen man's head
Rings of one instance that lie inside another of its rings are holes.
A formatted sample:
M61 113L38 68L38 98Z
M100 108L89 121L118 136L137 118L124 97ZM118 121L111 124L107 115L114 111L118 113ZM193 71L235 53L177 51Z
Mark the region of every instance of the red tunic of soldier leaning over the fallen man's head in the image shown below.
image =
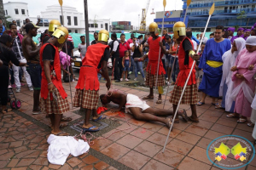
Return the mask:
M98 90L100 88L100 82L97 77L97 72L100 69L97 69L97 67L106 48L108 48L108 45L102 43L96 43L87 48L85 57L82 60L77 89Z

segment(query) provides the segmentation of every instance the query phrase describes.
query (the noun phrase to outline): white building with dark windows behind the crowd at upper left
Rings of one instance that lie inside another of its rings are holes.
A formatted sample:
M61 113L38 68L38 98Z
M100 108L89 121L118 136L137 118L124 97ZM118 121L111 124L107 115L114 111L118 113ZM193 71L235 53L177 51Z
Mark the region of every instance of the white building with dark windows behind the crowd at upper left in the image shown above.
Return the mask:
M5 14L9 15L12 20L17 21L17 25L22 26L25 23L26 18L29 18L33 23L38 22L38 16L29 17L27 3L17 3L17 2L9 2L3 3L3 8L5 10ZM64 26L67 27L69 32L75 33L84 33L85 32L85 22L84 22L84 14L79 13L76 8L69 6L62 6L63 15L64 15ZM25 10L25 14L23 11ZM16 12L18 11L18 13ZM48 29L50 20L60 20L63 25L63 20L61 17L61 7L59 4L48 6L45 11L42 11L40 14L41 22L39 23L40 29L38 32L44 32ZM89 31L101 31L102 29L106 29L109 31L110 20L89 20Z

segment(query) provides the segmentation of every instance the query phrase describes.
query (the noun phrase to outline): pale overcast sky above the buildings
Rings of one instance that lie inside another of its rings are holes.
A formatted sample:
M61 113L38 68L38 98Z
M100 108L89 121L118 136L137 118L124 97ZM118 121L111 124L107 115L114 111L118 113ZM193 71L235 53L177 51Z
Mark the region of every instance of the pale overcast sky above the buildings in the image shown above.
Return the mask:
M7 2L28 3L30 16L37 16L47 6L59 4L58 0L3 0ZM97 15L98 19L110 21L131 21L132 26L138 26L138 14L142 15L142 8L146 8L148 0L88 0L88 14L90 19ZM147 15L147 26L154 21L154 12L163 10L163 0L150 0ZM63 0L63 5L77 8L84 13L84 0ZM166 0L166 10L182 9L182 0ZM140 18L141 20L141 18Z

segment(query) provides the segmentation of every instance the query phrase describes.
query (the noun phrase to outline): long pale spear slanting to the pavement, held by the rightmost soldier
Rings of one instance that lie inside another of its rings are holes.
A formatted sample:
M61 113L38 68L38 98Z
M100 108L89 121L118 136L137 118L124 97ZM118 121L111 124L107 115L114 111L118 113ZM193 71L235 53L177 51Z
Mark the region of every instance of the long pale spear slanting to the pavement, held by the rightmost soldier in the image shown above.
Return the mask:
M210 21L210 19L211 19L211 16L212 16L213 12L214 12L214 3L212 4L211 9L209 10L209 17L208 17L208 20L207 20L207 26L208 26L208 24L209 24L209 21ZM205 27L205 30L204 30L204 33L203 33L202 38L205 37L206 31L207 31L207 26ZM202 42L202 41L201 41L201 42ZM201 48L201 42L200 42L200 44L199 44L199 47L197 48L196 54L198 54L199 48ZM192 71L193 71L193 69L194 69L194 65L195 65L195 60L193 61L193 65L191 66L191 69L190 69L190 71L189 71L189 77L191 76L191 73L192 73ZM183 94L184 94L185 89L186 89L186 86L187 86L187 84L188 84L188 82L189 82L189 77L187 78L187 80L186 80L186 82L185 82L185 84L184 84L183 93L181 94L180 99L179 99L179 101L178 101L177 109L176 109L175 114L174 114L174 116L173 116L172 125L171 125L171 127L170 127L170 129L169 129L169 133L168 133L167 138L166 138L166 144L167 144L169 135L170 135L170 133L171 133L171 131L172 131L172 127L173 127L173 123L174 123L175 117L176 117L176 115L177 115L178 107L179 107L179 105L180 105L181 100L183 99ZM165 149L166 149L166 144L164 145L163 152L164 152Z

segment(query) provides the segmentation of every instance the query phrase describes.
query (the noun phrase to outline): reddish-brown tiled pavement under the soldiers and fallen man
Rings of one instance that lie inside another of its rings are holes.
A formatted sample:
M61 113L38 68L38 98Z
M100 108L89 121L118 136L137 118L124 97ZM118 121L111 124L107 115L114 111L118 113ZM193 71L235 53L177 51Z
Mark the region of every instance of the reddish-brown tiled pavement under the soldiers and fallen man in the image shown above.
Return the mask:
M75 85L72 82L73 94ZM68 83L64 83L64 88L69 97ZM135 88L115 88L139 97L148 94ZM104 83L101 83L100 94L105 94L105 89ZM0 114L0 169L218 169L207 159L207 145L212 139L236 134L254 142L252 127L238 124L236 119L226 118L226 113L214 109L210 105L211 99L207 98L206 105L197 107L199 123L180 120L174 125L164 153L161 150L168 128L160 123L136 121L131 115L125 114L130 129L114 133L108 139L94 139L89 153L79 157L69 156L63 166L56 166L47 160L49 119L45 115L32 115L32 92L28 89L22 87L21 93L15 95L22 101L20 110ZM68 99L71 101L70 97ZM153 101L147 103L153 106ZM162 108L163 104L156 107ZM191 114L189 105L181 105L181 108ZM168 101L165 109L172 109ZM73 117L70 125L82 118L77 110L65 114ZM108 121L118 121L119 124L101 134L103 137L129 127L122 117L110 118ZM247 167L239 169L256 169L256 157Z

